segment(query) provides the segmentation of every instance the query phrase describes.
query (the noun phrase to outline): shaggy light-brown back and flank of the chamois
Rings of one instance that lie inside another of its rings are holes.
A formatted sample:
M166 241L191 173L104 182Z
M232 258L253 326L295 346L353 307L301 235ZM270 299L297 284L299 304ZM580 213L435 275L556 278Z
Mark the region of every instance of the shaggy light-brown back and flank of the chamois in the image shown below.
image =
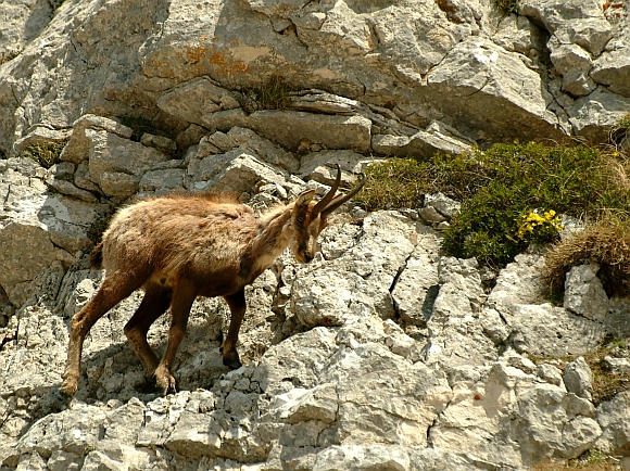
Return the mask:
M106 270L174 275L187 264L225 264L248 242L253 211L225 194L175 194L121 209L103 234ZM200 256L213 259L199 260ZM140 275L139 275L140 276Z

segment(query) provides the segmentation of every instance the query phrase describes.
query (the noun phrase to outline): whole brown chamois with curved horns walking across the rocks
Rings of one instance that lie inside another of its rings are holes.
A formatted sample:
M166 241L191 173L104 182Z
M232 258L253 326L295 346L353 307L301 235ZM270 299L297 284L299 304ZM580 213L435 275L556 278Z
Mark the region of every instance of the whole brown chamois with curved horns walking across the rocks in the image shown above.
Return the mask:
M318 202L315 190L261 218L234 196L222 193L175 193L140 201L112 218L102 242L92 253L93 265L105 268L94 297L72 319L67 364L60 391L72 396L80 377L85 336L94 322L139 288L140 306L124 328L148 373L165 392L175 391L173 362L184 340L190 308L197 296L223 296L231 319L223 343L223 362L241 366L237 352L245 313L244 287L291 247L295 259L308 263L317 250L317 236L327 216L355 195L336 195L341 180ZM160 360L147 342L151 324L171 306L172 322L166 351Z

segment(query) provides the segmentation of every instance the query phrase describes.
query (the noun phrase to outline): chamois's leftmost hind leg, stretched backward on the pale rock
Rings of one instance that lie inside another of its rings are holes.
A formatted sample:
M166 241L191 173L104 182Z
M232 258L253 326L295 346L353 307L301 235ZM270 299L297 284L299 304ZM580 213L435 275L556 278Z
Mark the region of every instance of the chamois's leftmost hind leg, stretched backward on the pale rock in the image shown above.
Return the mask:
M108 310L131 294L141 283L135 277L115 271L106 276L96 296L72 319L67 362L60 391L73 396L78 387L84 340L94 324Z

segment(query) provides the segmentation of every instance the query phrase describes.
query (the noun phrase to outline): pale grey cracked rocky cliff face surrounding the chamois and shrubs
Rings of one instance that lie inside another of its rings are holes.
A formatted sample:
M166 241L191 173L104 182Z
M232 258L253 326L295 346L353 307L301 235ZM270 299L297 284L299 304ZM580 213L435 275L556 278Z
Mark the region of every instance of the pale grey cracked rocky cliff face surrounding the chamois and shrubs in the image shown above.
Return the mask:
M241 193L255 211L332 164L352 183L388 155L514 139L604 140L630 110L628 4L65 0L0 5L0 470L518 470L596 448L630 455L630 394L596 405L579 356L630 336L597 267L545 302L524 254L494 283L440 253L441 195L346 207L310 265L280 257L248 290L228 372L223 301L198 300L161 397L125 341L136 293L56 389L67 323L98 289L94 228L172 190ZM281 76L287 110L251 90ZM20 156L64 143L47 169ZM67 142L67 143L66 143ZM165 345L168 318L150 331ZM609 358L630 370L628 359ZM627 467L630 464L626 463Z

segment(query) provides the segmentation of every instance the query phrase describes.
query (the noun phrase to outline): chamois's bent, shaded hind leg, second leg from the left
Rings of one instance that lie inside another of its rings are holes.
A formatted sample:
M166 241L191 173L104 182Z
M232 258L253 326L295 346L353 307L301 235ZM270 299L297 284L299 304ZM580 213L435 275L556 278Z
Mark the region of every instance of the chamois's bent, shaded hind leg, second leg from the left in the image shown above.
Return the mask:
M127 340L149 375L153 375L160 359L147 342L147 332L149 332L151 324L168 309L171 298L171 289L149 284L138 310L125 326L125 335L127 335Z

